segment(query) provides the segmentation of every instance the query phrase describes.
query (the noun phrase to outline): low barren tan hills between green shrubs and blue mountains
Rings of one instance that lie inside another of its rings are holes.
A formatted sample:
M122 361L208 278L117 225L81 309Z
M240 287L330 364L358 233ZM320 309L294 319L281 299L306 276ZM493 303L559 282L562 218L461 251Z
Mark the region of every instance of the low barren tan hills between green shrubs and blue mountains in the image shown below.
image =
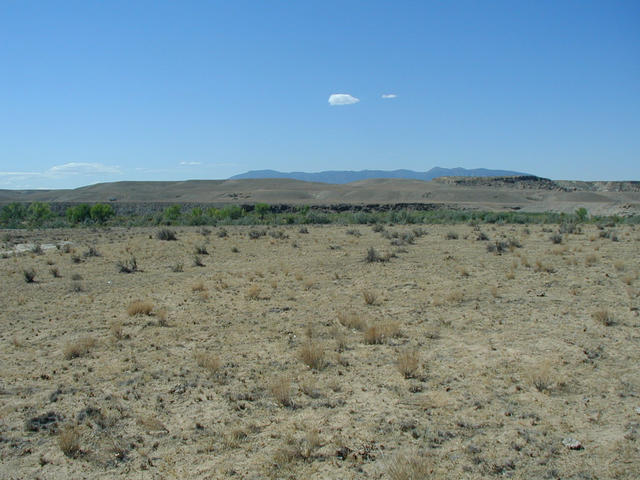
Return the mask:
M487 210L597 214L640 211L640 182L552 181L534 176L369 179L348 184L291 179L99 183L72 190L0 190L0 202L202 204L442 204Z

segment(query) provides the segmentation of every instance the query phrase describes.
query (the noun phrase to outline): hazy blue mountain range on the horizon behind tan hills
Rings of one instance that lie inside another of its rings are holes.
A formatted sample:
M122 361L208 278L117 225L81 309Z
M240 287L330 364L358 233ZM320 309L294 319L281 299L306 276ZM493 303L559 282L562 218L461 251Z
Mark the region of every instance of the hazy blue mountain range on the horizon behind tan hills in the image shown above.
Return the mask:
M433 180L438 177L501 177L511 175L530 175L528 173L513 172L510 170L488 170L486 168L442 168L434 167L427 172L415 172L413 170L328 170L324 172L278 172L276 170L251 170L246 173L234 175L231 180L247 178L290 178L304 180L306 182L321 183L351 183L370 178L408 178L412 180Z

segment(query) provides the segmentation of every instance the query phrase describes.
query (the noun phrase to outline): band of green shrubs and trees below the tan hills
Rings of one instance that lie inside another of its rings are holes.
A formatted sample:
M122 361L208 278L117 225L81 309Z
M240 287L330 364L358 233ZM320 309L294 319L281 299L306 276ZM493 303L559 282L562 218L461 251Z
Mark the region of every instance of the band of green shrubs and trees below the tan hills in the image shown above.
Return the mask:
M1 228L57 228L86 225L151 226L151 225L306 225L306 224L562 224L593 223L613 226L638 224L640 216L589 215L580 208L573 214L529 212L483 212L470 210L398 210L332 211L327 208L301 206L287 212L261 203L245 210L239 205L222 208L172 205L162 211L117 215L109 204L80 204L64 213L54 213L47 203L11 203L0 210Z

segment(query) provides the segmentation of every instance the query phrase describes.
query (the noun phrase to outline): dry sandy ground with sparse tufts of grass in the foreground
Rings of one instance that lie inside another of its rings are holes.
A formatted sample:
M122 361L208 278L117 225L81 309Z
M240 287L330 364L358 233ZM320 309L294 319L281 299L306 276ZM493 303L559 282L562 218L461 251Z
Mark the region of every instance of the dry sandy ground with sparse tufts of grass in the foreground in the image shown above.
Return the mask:
M0 232L0 478L639 478L640 231L557 228Z

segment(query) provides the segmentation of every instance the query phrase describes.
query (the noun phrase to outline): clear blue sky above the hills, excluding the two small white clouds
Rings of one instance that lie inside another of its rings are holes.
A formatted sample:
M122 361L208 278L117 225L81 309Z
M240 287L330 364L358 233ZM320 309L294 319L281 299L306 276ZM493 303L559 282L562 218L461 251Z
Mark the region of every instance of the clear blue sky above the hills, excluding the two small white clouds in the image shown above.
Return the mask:
M640 180L640 2L0 0L0 188L434 166Z

